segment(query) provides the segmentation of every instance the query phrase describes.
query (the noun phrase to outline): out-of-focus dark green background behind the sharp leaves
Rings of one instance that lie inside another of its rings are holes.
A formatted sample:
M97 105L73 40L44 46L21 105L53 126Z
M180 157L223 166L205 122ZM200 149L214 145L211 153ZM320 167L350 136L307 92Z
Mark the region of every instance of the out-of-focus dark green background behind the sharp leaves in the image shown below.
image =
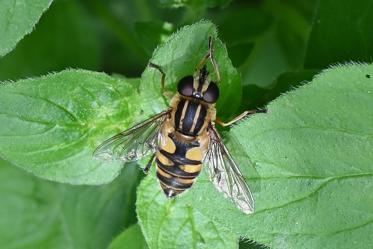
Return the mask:
M0 59L0 81L66 68L140 77L172 32L208 19L242 75L241 109L258 108L330 65L371 62L372 8L368 0L55 0L35 30ZM74 187L37 179L5 161L0 166L0 248L106 248L136 223L137 170L126 169L107 186ZM78 199L86 200L80 208ZM97 200L103 206L95 206ZM86 222L74 223L76 216ZM97 220L103 225L93 228ZM45 231L30 237L38 229ZM15 242L19 237L22 243ZM67 237L73 242L65 247Z

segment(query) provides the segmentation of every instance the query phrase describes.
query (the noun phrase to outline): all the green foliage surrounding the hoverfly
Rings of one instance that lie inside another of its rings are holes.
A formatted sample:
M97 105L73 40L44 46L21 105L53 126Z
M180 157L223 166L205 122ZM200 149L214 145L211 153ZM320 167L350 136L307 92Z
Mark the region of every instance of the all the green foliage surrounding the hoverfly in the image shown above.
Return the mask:
M369 1L50 3L0 0L1 248L372 247L373 66L356 63L373 56ZM154 167L135 191L136 163L92 158L167 108L147 63L174 93L209 36L217 115L268 108L221 131L254 194L252 215L206 168L169 200Z

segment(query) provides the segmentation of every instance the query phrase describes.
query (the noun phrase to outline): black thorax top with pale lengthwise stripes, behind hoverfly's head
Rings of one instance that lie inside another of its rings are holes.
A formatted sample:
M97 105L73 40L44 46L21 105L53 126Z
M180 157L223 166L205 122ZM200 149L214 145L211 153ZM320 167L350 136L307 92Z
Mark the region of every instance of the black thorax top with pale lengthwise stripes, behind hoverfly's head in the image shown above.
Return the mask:
M174 116L175 129L185 135L197 136L203 129L207 106L200 101L181 98Z

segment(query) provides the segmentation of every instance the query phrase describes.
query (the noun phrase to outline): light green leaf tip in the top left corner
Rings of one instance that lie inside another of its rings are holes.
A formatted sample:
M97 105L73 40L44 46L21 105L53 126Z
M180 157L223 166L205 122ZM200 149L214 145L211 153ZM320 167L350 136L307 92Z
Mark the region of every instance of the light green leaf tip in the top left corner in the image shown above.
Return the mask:
M25 35L30 33L52 0L0 1L0 57L9 53Z

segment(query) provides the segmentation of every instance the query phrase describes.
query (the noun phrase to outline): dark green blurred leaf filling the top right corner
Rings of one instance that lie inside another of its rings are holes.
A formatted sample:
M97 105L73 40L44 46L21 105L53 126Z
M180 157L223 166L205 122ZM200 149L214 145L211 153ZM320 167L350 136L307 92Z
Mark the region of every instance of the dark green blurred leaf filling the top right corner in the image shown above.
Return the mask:
M308 41L305 68L366 61L373 56L373 2L320 1Z

